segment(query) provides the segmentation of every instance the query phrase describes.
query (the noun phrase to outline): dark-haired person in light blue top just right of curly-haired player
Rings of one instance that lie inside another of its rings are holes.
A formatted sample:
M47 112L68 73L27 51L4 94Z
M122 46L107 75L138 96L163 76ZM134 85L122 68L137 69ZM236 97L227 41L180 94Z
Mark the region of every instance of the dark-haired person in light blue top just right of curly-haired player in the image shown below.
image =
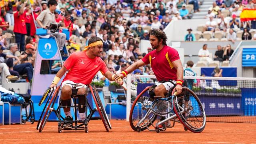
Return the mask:
M196 76L196 73L191 69L193 66L194 66L194 62L189 60L187 62L186 68L184 69L184 76ZM186 80L187 80L187 83L188 83L188 88L190 90L192 90L194 82L196 83L196 81L193 80L193 79L186 79Z

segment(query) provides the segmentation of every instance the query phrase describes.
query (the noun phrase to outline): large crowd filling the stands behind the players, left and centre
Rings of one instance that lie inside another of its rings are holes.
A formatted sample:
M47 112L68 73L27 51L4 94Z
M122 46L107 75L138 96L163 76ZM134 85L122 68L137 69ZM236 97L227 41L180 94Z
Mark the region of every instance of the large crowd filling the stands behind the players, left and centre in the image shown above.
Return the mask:
M189 2L198 5L197 0ZM36 28L42 27L38 21L44 21L44 14L50 14L56 23L69 28L71 37L66 44L70 54L83 50L90 37L102 38L102 60L114 73L145 56L139 44L140 40L148 40L150 29L163 30L172 20L188 18L183 0L57 0L57 3L56 9L64 16L55 11L44 12L51 6L44 0L0 2L0 56L5 82L22 77L27 82L32 80L39 40ZM62 42L58 42L62 50ZM54 62L52 69L60 67L60 62ZM141 73L152 74L150 66L141 68Z

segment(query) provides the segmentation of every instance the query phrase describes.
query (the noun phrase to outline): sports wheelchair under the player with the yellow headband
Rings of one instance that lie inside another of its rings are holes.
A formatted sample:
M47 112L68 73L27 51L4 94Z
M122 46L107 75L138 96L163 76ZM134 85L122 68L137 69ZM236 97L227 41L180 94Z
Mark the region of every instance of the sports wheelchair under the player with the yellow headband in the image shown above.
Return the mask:
M76 88L80 85L72 84L72 86L73 86L73 88L72 88L71 98L74 100L74 105L73 106L61 106L60 97L59 97L58 108L57 109L54 109L54 104L55 104L55 101L58 97L58 93L60 91L60 86L58 86L56 88L56 90L51 91L50 87L46 90L46 92L42 96L42 99L41 99L39 105L41 105L42 102L44 102L44 100L47 97L48 98L46 100L46 104L44 106L42 114L41 114L41 116L38 120L38 124L37 124L36 129L39 130L39 132L42 132L50 114L52 112L54 112L56 114L56 116L58 117L58 132L59 133L62 132L62 130L84 130L87 133L88 132L88 122L90 121L90 119L92 118L92 115L96 111L99 112L100 118L102 119L104 127L106 128L106 131L108 132L109 129L112 129L112 127L110 125L110 122L109 122L109 119L108 119L108 116L106 114L106 111L104 109L104 106L102 105L102 102L100 100L100 96L98 94L98 91L96 90L96 87L95 86L92 87L91 85L88 85L88 87L90 89L90 92L92 94L92 98L93 98L93 100L95 102L95 105L96 105L96 108L92 108L92 106L90 106L90 104L87 100L87 97L85 98L85 100L86 100L85 105L77 105L76 100L77 100L77 98L79 99L79 95L76 94L77 90L78 90ZM88 88L87 88L87 92L88 92ZM73 123L75 125L72 126L71 129L62 128L64 117L61 116L60 109L61 108L67 108L67 107L74 108L75 120L73 120ZM81 108L85 107L85 115L86 115L85 120L78 120L77 119L77 108L79 108L79 107L81 107ZM88 108L89 108L89 111L90 111L89 115L87 114Z

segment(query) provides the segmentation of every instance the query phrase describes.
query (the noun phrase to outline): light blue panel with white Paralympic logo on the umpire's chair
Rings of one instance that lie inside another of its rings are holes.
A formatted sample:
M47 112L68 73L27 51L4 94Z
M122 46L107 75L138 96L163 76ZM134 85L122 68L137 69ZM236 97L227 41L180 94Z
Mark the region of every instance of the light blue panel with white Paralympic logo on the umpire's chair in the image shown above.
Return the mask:
M38 52L42 58L52 58L57 52L57 44L54 37L40 38L38 42Z

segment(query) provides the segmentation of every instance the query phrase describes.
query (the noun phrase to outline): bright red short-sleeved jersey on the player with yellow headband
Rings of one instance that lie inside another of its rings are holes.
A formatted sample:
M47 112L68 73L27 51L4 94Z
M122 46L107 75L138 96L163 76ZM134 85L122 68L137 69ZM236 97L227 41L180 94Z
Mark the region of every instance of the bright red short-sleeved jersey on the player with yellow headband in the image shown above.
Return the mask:
M108 71L104 61L100 57L88 58L86 51L74 52L64 62L64 66L69 70L65 80L71 80L74 83L90 84L93 77L100 70L103 74Z

